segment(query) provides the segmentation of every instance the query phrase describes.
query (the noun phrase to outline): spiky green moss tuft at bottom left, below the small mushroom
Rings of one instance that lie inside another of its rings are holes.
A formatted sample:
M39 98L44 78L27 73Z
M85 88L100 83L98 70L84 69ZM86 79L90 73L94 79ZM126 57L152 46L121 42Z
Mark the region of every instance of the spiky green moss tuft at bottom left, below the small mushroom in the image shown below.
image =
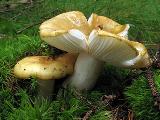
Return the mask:
M8 120L51 120L58 111L60 104L56 101L50 103L45 99L36 99L34 102L25 91L19 91L21 96L20 107L12 107Z

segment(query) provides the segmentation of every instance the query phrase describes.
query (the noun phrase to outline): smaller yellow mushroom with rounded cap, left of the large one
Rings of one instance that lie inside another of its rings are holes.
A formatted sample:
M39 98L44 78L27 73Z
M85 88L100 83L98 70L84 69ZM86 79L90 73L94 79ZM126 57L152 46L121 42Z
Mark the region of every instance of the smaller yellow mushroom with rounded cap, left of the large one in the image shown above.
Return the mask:
M14 67L14 74L20 79L35 77L38 80L38 94L44 98L51 97L55 79L73 73L77 56L64 54L57 58L48 56L30 56L20 60Z

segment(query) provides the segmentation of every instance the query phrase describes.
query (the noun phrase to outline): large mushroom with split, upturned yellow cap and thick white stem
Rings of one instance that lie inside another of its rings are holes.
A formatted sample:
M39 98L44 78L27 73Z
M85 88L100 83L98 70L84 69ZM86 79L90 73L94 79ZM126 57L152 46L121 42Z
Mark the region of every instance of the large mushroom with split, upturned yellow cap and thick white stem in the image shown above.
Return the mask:
M58 49L79 53L69 84L91 89L104 62L118 67L143 68L151 64L143 44L128 40L129 25L79 11L55 16L40 26L41 39Z

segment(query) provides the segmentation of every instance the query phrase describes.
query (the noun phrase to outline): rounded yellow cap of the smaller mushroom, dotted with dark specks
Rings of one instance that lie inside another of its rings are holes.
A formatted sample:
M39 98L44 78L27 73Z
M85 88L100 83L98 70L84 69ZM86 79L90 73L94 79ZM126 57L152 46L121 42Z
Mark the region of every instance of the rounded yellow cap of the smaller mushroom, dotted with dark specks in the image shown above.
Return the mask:
M68 64L62 62L68 61L68 58L72 59L72 62L68 62ZM36 77L40 80L60 79L72 74L76 56L66 54L61 56L61 59L61 61L58 61L48 56L26 57L15 65L14 74L20 79L29 77Z

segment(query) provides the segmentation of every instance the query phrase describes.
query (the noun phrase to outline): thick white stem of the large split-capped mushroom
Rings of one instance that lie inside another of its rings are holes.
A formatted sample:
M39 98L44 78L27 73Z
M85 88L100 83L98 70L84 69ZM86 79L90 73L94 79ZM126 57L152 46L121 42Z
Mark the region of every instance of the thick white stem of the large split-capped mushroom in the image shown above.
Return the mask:
M69 85L79 90L91 89L102 70L103 62L83 52L75 63L74 73L69 78Z

